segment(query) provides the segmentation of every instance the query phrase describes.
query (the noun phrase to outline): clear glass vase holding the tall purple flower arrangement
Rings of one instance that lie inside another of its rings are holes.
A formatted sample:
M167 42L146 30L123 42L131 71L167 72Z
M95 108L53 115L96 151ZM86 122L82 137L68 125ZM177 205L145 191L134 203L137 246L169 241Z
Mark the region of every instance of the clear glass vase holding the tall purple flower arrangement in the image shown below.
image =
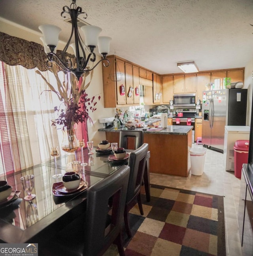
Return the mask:
M76 138L76 129L64 130L62 150L67 153L74 153L79 148L79 141Z

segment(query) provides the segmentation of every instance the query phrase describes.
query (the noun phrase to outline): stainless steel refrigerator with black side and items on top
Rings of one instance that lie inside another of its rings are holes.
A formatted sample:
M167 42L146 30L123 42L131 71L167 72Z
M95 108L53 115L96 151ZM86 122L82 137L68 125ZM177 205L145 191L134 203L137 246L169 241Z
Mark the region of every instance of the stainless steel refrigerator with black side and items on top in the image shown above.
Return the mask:
M247 89L203 91L203 146L223 153L225 126L244 126L246 113Z

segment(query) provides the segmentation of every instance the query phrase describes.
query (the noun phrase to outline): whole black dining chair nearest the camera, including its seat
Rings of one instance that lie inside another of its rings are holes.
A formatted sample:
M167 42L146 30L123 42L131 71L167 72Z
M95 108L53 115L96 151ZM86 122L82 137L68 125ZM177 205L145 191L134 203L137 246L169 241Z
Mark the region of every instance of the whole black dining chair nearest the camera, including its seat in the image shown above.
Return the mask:
M119 255L124 256L122 229L129 173L130 167L122 166L91 187L85 218L79 217L64 227L50 245L45 245L47 248L43 248L42 255L97 256L103 255L115 243ZM52 248L55 249L52 251Z

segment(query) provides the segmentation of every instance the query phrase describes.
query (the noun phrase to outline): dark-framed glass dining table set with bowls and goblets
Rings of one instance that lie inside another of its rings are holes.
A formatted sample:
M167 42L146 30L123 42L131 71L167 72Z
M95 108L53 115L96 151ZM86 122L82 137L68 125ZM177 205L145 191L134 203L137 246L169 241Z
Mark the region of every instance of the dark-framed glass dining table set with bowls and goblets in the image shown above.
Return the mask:
M83 214L89 187L128 164L128 160L109 161L108 154L96 153L95 150L93 155L88 155L88 150L84 149L85 166L84 170L81 168L80 177L87 181L88 188L76 193L53 194L54 183L62 181L62 178L52 177L55 174L53 159L15 174L0 176L0 180L8 181L15 194L8 202L0 202L0 243L46 243L62 227ZM82 161L81 151L75 157ZM63 175L72 170L68 160L68 156L57 158L58 173ZM26 193L20 180L28 174L34 175L32 194L36 198L32 201L24 200Z

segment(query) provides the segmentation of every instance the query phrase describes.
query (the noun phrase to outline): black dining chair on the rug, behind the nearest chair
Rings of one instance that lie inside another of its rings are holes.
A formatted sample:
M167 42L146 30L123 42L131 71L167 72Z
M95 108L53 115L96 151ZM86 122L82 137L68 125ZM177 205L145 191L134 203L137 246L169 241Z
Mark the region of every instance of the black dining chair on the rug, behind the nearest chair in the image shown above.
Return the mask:
M124 210L125 229L128 237L132 237L130 224L129 224L129 210L132 202L137 198L140 214L143 215L142 200L141 200L141 187L143 181L143 174L146 165L148 144L143 143L138 149L131 152L128 160L130 167L130 175L128 180L128 187L126 193L126 204Z

